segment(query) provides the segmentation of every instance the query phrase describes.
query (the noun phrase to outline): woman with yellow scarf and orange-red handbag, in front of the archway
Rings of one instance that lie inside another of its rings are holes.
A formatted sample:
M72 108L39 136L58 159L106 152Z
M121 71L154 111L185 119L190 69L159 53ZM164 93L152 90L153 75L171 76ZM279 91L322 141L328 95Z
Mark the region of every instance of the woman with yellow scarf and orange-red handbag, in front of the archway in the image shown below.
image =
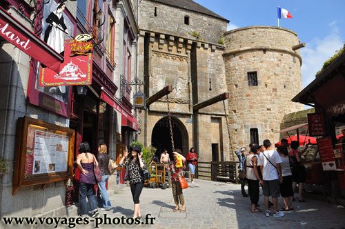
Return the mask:
M176 204L176 208L173 210L177 212L179 210L179 203L181 203L182 208L180 212L186 211L186 206L184 205L184 193L182 192L181 184L179 177L184 176L184 167L183 164L186 162L186 158L181 155L181 150L176 149L175 152L172 152L174 160L170 162L169 170L171 171L171 188L172 195ZM186 179L184 179L186 181Z

